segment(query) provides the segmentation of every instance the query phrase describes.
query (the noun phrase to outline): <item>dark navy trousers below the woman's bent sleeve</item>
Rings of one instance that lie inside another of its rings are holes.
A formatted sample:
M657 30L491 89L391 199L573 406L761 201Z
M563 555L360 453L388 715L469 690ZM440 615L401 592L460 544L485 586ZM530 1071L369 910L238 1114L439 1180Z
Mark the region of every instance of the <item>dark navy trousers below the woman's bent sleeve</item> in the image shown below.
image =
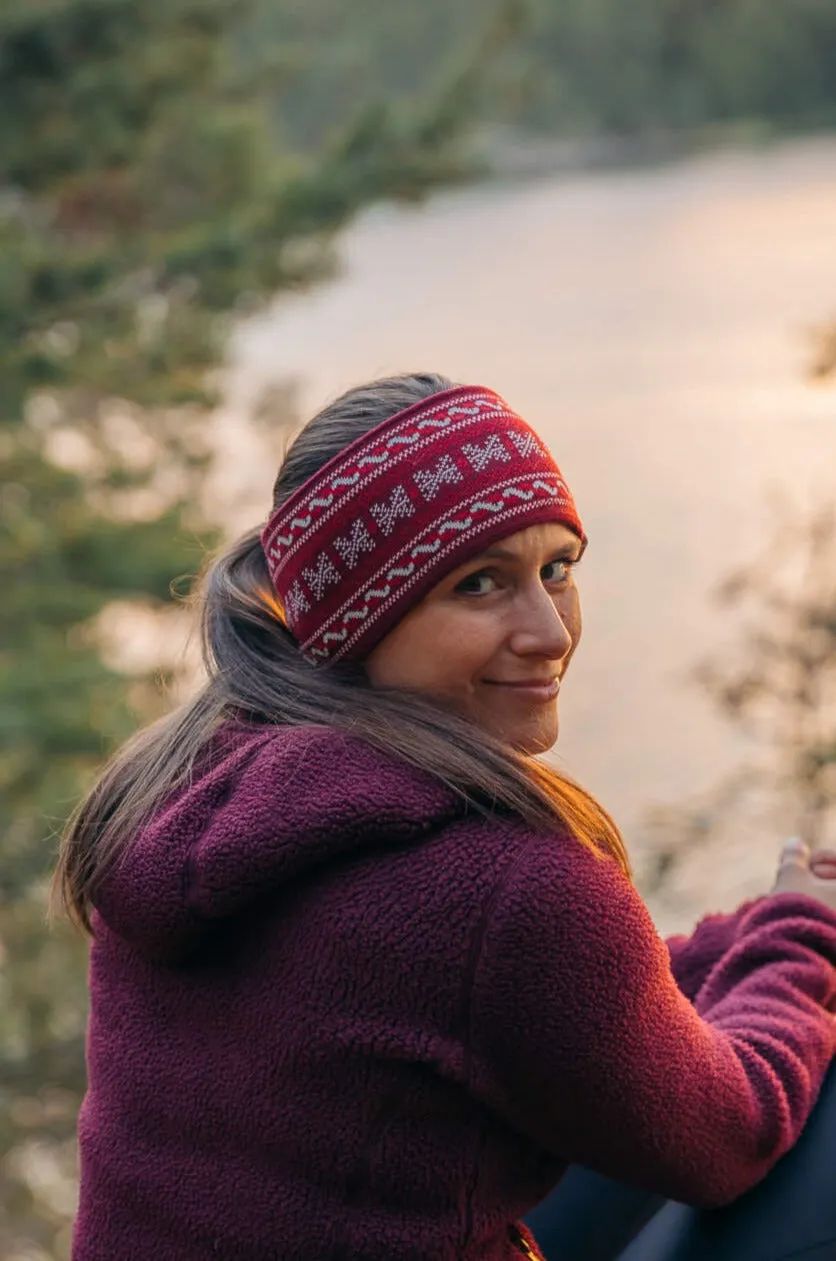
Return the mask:
M836 1261L836 1068L793 1150L728 1208L571 1169L528 1224L547 1261Z

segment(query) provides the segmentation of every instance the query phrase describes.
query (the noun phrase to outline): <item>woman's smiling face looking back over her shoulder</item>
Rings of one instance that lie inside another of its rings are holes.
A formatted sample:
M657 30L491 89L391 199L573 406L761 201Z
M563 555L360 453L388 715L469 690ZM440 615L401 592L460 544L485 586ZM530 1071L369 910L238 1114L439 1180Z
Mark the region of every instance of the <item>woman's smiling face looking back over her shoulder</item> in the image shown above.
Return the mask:
M557 739L557 694L581 632L566 526L530 526L448 574L369 653L373 687L444 701L521 753Z

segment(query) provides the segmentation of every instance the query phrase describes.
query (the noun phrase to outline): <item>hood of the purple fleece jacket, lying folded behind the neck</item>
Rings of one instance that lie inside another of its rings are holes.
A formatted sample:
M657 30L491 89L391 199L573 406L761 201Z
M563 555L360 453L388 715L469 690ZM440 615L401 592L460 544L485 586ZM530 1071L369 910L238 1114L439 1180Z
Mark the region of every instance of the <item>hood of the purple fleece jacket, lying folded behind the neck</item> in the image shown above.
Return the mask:
M229 721L106 876L93 928L101 918L153 956L188 953L330 859L417 840L465 810L440 781L330 728Z

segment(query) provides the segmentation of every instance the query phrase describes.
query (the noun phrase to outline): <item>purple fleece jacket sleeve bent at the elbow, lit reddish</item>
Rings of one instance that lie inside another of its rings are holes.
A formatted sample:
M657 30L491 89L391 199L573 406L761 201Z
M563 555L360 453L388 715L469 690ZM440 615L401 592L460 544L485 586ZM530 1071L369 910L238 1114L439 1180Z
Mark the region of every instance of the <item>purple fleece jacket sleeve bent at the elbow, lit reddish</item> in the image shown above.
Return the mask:
M836 914L811 898L741 908L695 1006L617 864L531 837L475 951L474 1093L557 1159L671 1199L763 1178L836 1052Z

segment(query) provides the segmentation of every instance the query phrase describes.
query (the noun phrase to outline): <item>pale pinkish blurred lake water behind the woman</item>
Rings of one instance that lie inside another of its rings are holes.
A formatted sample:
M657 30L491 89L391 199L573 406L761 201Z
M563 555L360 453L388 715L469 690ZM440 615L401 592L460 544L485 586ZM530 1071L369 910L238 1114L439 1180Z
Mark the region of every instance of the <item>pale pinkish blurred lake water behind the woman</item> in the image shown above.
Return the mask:
M836 488L836 388L804 380L808 329L836 313L836 140L380 208L342 257L335 284L241 330L227 425L266 381L299 378L308 416L366 378L434 369L492 386L543 434L591 538L560 757L641 844L648 806L745 752L688 681L730 637L714 585L768 537L768 492L804 506ZM274 472L255 449L240 465L242 523ZM770 826L734 879L696 870L677 915L690 894L762 885L786 821Z

